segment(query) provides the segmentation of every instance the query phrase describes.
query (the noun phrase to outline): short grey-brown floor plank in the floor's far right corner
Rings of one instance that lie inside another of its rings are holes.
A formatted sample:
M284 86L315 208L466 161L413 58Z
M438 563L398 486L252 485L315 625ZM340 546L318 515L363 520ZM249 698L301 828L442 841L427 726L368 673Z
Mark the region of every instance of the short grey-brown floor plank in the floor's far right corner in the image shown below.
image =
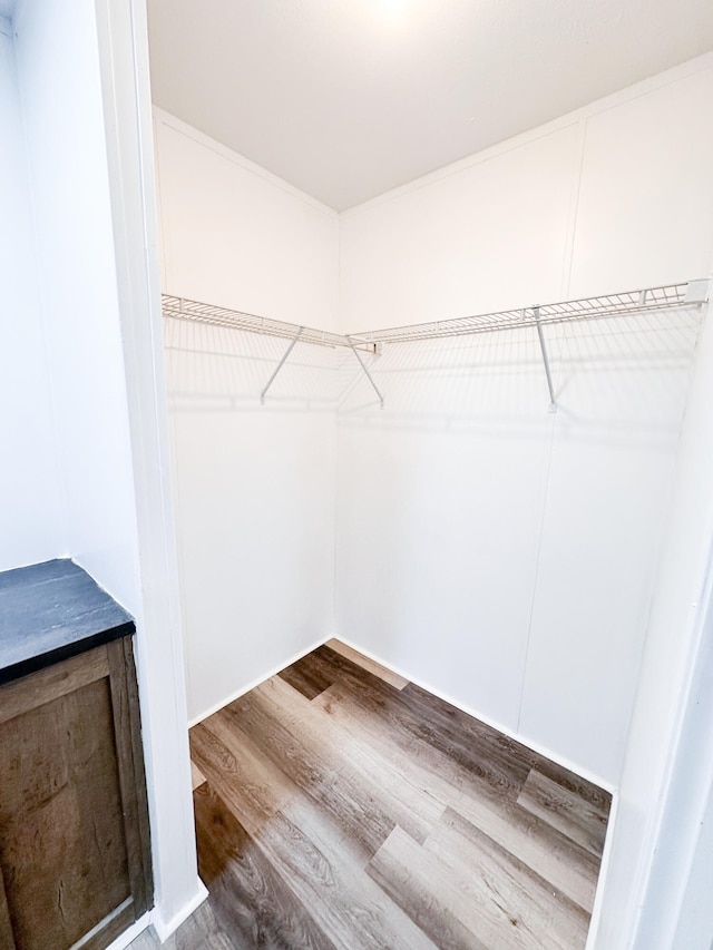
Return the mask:
M518 805L561 831L592 854L604 850L606 819L579 795L533 768L520 792Z

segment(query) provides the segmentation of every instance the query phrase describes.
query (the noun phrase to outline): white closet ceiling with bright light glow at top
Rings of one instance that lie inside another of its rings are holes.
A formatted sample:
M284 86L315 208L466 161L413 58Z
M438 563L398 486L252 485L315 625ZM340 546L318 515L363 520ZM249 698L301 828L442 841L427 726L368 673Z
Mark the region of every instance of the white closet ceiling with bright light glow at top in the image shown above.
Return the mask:
M148 0L148 14L154 101L338 210L713 49L712 0Z

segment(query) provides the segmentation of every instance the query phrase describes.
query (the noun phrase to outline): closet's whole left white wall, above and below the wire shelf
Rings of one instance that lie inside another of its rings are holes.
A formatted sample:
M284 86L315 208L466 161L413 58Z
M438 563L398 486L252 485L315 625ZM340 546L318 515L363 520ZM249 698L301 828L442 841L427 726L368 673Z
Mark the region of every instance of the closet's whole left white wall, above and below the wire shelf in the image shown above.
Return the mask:
M156 112L164 290L295 323L336 320L338 217ZM196 719L334 630L333 351L166 322Z

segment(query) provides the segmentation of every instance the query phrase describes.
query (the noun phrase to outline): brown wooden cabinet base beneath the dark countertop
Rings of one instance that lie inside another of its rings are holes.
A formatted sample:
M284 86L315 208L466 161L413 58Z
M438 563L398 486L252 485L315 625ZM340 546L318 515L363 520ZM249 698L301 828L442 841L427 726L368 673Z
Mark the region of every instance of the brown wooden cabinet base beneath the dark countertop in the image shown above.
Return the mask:
M0 948L99 950L152 897L124 636L0 686Z

